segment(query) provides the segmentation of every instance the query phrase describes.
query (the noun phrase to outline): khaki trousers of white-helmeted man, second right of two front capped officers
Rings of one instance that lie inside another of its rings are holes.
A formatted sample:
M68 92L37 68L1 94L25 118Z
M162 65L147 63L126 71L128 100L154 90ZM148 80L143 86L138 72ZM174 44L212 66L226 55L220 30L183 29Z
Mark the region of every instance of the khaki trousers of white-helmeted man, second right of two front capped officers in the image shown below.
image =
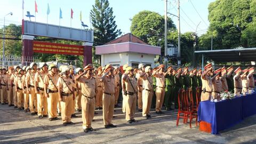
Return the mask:
M142 91L142 116L149 115L151 102L152 102L153 92L149 92L147 90Z

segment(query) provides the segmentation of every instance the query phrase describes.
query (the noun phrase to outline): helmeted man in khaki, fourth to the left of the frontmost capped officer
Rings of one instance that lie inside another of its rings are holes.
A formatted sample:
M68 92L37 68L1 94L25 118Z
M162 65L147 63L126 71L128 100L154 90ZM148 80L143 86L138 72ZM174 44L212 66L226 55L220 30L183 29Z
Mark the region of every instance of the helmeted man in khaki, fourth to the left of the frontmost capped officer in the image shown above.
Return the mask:
M37 94L35 93L35 75L37 70L37 64L31 62L26 74L26 87L29 95L29 110L31 115L37 114Z

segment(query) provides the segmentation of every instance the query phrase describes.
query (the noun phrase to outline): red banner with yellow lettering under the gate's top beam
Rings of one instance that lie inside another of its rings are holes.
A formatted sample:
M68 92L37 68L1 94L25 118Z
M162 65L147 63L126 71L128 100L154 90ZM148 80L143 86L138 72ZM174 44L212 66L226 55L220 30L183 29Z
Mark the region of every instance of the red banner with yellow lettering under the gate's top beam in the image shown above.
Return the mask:
M84 55L84 46L33 41L33 51L68 55Z

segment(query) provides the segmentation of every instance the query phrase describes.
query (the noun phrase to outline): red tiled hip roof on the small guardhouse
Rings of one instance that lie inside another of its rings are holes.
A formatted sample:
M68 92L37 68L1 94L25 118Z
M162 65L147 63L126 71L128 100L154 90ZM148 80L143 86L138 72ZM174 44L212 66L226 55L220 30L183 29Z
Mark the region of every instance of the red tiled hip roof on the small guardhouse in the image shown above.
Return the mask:
M125 35L123 35L121 37L118 37L118 38L114 39L113 41L110 41L110 42L106 43L105 45L117 44L117 43L126 43L126 42L132 42L132 43L139 43L139 44L149 45L149 44L143 42L140 38L134 36L131 33L127 33L127 34L125 34Z

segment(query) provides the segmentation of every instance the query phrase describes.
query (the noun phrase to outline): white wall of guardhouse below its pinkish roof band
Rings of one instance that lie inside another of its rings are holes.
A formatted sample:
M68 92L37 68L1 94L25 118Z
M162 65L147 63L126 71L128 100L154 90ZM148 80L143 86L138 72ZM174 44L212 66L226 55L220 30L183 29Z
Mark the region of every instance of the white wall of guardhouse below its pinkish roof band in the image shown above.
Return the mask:
M141 57L143 55L143 57ZM109 63L112 65L123 66L128 64L129 66L132 63L145 63L150 64L151 67L154 66L154 57L153 54L142 54L142 53L112 53L112 54L102 54L101 55L101 66L105 67Z

